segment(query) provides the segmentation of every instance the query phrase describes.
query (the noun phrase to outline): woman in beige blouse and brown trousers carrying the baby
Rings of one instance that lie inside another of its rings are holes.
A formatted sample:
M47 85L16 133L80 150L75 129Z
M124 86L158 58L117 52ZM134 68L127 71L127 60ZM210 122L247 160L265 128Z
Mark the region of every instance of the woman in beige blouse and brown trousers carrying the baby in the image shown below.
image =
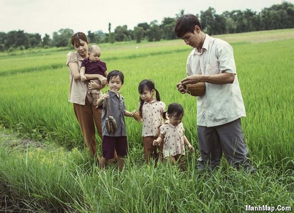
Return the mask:
M95 125L98 129L98 134L102 139L101 128L101 109L95 109L92 105L92 95L87 93L87 85L80 80L80 66L83 59L88 57L88 44L89 41L86 35L82 32L77 32L71 37L71 42L76 50L69 52L67 55L67 66L70 71L70 93L69 102L73 103L73 110L75 117L78 120L81 131L83 133L86 146L91 156L95 156L98 160L96 149ZM106 78L99 74L85 74L88 80L99 79L102 85L106 84ZM89 85L89 89L98 89L98 84Z

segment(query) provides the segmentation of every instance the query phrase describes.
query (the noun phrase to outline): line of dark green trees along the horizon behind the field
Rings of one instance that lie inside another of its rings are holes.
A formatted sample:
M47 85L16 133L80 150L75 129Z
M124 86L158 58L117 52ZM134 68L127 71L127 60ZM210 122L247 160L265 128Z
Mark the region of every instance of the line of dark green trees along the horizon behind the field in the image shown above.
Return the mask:
M140 23L133 30L127 29L127 25L117 26L114 32L111 23L108 25L108 33L101 30L88 31L88 39L91 43L115 43L122 41L133 41L140 43L142 40L148 42L176 39L173 28L176 19L184 14L180 10L175 17L166 17L162 23L153 21L151 23ZM233 10L216 14L216 10L209 7L206 11L200 11L199 18L203 30L209 35L220 35L227 33L242 33L259 30L294 28L294 4L283 1L264 8L257 13L250 9L245 11ZM71 46L69 38L73 35L72 29L60 29L53 32L52 38L45 34L43 38L39 33L25 33L23 30L0 32L0 51L13 51L15 49L28 49L34 47L68 47Z

